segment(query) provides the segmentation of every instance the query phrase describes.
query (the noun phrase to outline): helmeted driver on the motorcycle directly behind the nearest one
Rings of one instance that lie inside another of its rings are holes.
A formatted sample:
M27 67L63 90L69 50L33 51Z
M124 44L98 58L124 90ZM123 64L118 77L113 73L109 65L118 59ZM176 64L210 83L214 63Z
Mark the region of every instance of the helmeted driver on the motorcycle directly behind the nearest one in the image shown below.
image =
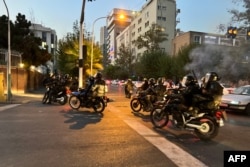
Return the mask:
M152 101L156 100L156 90L155 90L155 79L150 78L149 79L149 87L145 90L146 94L146 101L147 101L147 108L145 108L146 111L151 111L153 109Z

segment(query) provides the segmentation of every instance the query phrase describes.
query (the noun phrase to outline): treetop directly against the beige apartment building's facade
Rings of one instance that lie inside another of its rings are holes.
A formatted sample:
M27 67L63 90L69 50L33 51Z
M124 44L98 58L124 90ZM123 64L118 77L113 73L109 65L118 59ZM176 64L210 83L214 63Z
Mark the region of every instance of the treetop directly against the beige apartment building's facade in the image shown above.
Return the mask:
M148 51L153 52L160 49L160 43L168 40L167 36L159 25L152 24L144 35L137 38L135 44L139 48L146 47Z

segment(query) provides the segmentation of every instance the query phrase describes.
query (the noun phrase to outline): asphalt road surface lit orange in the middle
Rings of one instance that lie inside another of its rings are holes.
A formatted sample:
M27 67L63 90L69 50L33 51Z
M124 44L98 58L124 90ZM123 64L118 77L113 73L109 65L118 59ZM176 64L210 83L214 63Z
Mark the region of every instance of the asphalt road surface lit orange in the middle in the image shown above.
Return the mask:
M223 166L225 150L250 150L249 117L229 120L210 142L192 131L154 129L149 113L132 113L123 87L109 87L103 115L68 104L41 104L42 94L0 106L0 166ZM20 105L19 105L20 104ZM3 106L4 105L4 106Z

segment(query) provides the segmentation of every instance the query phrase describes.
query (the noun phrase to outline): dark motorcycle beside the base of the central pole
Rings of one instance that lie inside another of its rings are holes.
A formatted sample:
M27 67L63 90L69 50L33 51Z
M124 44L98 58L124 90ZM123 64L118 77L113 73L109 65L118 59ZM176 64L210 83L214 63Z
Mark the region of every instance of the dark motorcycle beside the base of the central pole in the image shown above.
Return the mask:
M93 82L90 82L85 89L71 92L69 105L72 109L78 110L80 107L93 108L95 112L102 113L107 106L108 98L106 96L93 96L91 88Z

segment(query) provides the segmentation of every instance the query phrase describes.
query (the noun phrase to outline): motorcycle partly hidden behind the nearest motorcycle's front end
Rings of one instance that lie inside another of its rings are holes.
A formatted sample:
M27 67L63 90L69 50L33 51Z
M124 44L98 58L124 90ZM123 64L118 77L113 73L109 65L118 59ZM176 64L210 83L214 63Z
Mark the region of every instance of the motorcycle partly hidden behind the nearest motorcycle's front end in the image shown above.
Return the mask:
M143 109L143 111L150 112L148 110L148 102L146 100L146 95L144 91L137 91L136 95L134 95L130 101L130 108L134 112L139 112ZM151 101L152 104L155 103L155 100Z

